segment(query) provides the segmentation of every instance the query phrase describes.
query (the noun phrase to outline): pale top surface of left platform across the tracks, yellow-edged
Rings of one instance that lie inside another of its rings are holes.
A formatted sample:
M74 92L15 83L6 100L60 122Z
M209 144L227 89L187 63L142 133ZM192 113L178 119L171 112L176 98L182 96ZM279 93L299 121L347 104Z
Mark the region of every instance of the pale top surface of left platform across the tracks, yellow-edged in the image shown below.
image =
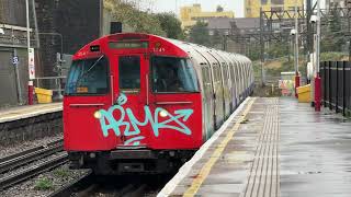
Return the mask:
M24 105L0 109L0 124L63 111L63 103Z

